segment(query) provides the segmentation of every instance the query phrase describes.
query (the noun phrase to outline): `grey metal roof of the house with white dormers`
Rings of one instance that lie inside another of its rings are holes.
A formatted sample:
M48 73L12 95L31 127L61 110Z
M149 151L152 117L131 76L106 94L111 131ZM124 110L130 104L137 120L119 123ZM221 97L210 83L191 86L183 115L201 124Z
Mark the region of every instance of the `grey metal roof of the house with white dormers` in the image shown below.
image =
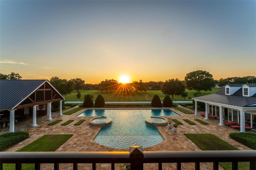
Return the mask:
M233 86L233 87L242 87L242 86ZM256 107L256 94L252 97L243 97L242 88L236 91L233 95L225 95L225 87L222 87L216 93L194 97L193 99L198 99L202 101L208 101L213 103L221 103L224 105L232 105L237 107Z

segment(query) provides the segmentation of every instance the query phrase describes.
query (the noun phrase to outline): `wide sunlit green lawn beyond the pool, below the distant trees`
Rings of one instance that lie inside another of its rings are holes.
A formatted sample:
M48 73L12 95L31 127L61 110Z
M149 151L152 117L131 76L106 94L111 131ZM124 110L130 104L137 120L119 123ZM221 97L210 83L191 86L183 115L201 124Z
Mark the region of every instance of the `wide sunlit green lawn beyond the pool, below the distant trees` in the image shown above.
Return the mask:
M212 89L212 91L201 91L202 95L209 95L211 93L215 93L216 91L218 91L219 89ZM188 97L194 97L194 93L196 91L194 90L187 90L188 92ZM160 90L150 90L150 91L138 91L135 93L122 93L122 91L111 91L111 93L107 93L107 92L101 92L101 91L97 91L97 90L81 90L81 98L78 99L76 97L77 95L77 91L72 91L71 94L69 95L64 95L65 97L65 101L84 101L84 96L85 95L92 95L93 96L93 101L95 101L96 97L98 95L102 95L104 97L105 101L152 101L154 95L158 95L161 99L161 101L163 101L164 99L164 94L162 94L162 91ZM123 94L123 97L120 97L121 94ZM189 101L188 97L186 97L186 101ZM176 96L174 95L174 99L172 99L173 101L183 101L183 98L181 96ZM191 99L190 99L191 101Z

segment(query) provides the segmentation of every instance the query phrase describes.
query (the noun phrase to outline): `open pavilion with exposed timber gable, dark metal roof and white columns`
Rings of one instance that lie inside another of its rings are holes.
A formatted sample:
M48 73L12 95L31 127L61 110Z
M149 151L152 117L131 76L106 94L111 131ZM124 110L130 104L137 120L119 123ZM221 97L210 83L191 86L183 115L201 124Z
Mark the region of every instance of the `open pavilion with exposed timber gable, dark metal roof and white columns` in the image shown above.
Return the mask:
M0 80L0 123L10 126L14 132L16 120L32 117L32 127L37 126L36 117L48 115L52 119L51 103L65 99L47 80Z

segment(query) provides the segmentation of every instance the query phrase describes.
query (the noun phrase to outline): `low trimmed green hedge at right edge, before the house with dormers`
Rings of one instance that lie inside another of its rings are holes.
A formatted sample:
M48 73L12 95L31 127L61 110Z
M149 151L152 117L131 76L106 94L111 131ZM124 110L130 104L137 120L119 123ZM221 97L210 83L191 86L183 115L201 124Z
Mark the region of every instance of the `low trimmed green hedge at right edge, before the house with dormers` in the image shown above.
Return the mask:
M254 133L244 133L244 132L237 132L237 133L230 133L230 138L248 146L256 150L256 134Z

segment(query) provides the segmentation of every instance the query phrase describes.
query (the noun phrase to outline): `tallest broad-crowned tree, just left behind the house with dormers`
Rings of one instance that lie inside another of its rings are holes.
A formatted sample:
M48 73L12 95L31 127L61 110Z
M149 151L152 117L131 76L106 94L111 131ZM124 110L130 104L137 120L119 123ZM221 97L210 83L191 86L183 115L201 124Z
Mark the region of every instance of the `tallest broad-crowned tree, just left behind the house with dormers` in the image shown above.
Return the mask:
M212 91L214 79L208 71L192 71L186 75L185 85L189 90L196 90L198 92L201 90Z

